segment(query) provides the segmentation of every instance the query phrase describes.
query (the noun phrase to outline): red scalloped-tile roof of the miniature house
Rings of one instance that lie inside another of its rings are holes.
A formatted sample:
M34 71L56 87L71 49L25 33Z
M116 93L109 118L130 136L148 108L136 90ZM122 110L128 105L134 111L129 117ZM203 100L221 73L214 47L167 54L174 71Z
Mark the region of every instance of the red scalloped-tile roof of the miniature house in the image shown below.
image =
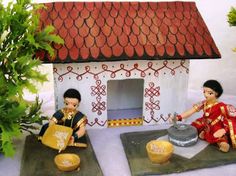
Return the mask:
M194 2L54 2L40 10L65 41L44 62L219 58Z

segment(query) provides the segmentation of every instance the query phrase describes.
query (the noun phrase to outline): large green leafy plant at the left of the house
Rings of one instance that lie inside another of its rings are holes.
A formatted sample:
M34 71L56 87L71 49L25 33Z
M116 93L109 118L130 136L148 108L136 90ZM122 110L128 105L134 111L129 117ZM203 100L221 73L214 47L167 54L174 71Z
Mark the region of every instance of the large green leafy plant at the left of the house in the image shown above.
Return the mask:
M35 53L45 50L53 56L52 42L63 44L52 26L39 28L40 8L44 7L30 0L7 6L0 0L0 151L5 156L14 156L15 137L23 130L32 132L42 122L42 102L24 99L25 90L37 93L35 84L47 80L37 69L42 63Z

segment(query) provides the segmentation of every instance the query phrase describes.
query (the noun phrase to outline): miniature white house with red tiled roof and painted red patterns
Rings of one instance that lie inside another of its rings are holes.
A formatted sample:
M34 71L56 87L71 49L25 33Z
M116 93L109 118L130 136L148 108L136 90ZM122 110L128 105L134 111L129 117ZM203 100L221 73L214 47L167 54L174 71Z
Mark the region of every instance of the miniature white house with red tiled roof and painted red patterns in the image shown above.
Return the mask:
M40 11L54 45L56 107L80 91L88 126L165 123L185 109L190 59L220 53L194 2L54 2Z

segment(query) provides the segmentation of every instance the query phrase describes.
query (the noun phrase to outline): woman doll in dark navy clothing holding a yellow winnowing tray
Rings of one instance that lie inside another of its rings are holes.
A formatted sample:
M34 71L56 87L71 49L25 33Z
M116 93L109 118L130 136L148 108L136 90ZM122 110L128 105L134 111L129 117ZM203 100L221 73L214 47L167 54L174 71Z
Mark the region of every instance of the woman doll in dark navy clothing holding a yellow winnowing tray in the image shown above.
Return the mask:
M68 89L64 93L65 107L56 111L49 123L43 125L39 133L39 139L42 138L49 125L59 124L73 129L73 134L69 141L69 146L87 147L85 137L85 125L87 118L84 114L77 111L81 101L81 95L76 89Z

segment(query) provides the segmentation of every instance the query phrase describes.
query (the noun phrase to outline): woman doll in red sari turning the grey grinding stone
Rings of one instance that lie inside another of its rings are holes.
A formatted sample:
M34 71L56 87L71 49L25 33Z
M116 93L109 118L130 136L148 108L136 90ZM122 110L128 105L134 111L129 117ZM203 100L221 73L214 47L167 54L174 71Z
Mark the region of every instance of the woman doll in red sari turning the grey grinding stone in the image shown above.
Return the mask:
M206 140L210 144L217 144L220 151L228 152L229 141L236 148L236 109L232 105L218 102L222 93L223 89L218 81L206 81L203 84L203 94L206 99L177 115L176 118L181 121L195 112L203 110L203 116L192 122L191 125L197 128L200 139Z

